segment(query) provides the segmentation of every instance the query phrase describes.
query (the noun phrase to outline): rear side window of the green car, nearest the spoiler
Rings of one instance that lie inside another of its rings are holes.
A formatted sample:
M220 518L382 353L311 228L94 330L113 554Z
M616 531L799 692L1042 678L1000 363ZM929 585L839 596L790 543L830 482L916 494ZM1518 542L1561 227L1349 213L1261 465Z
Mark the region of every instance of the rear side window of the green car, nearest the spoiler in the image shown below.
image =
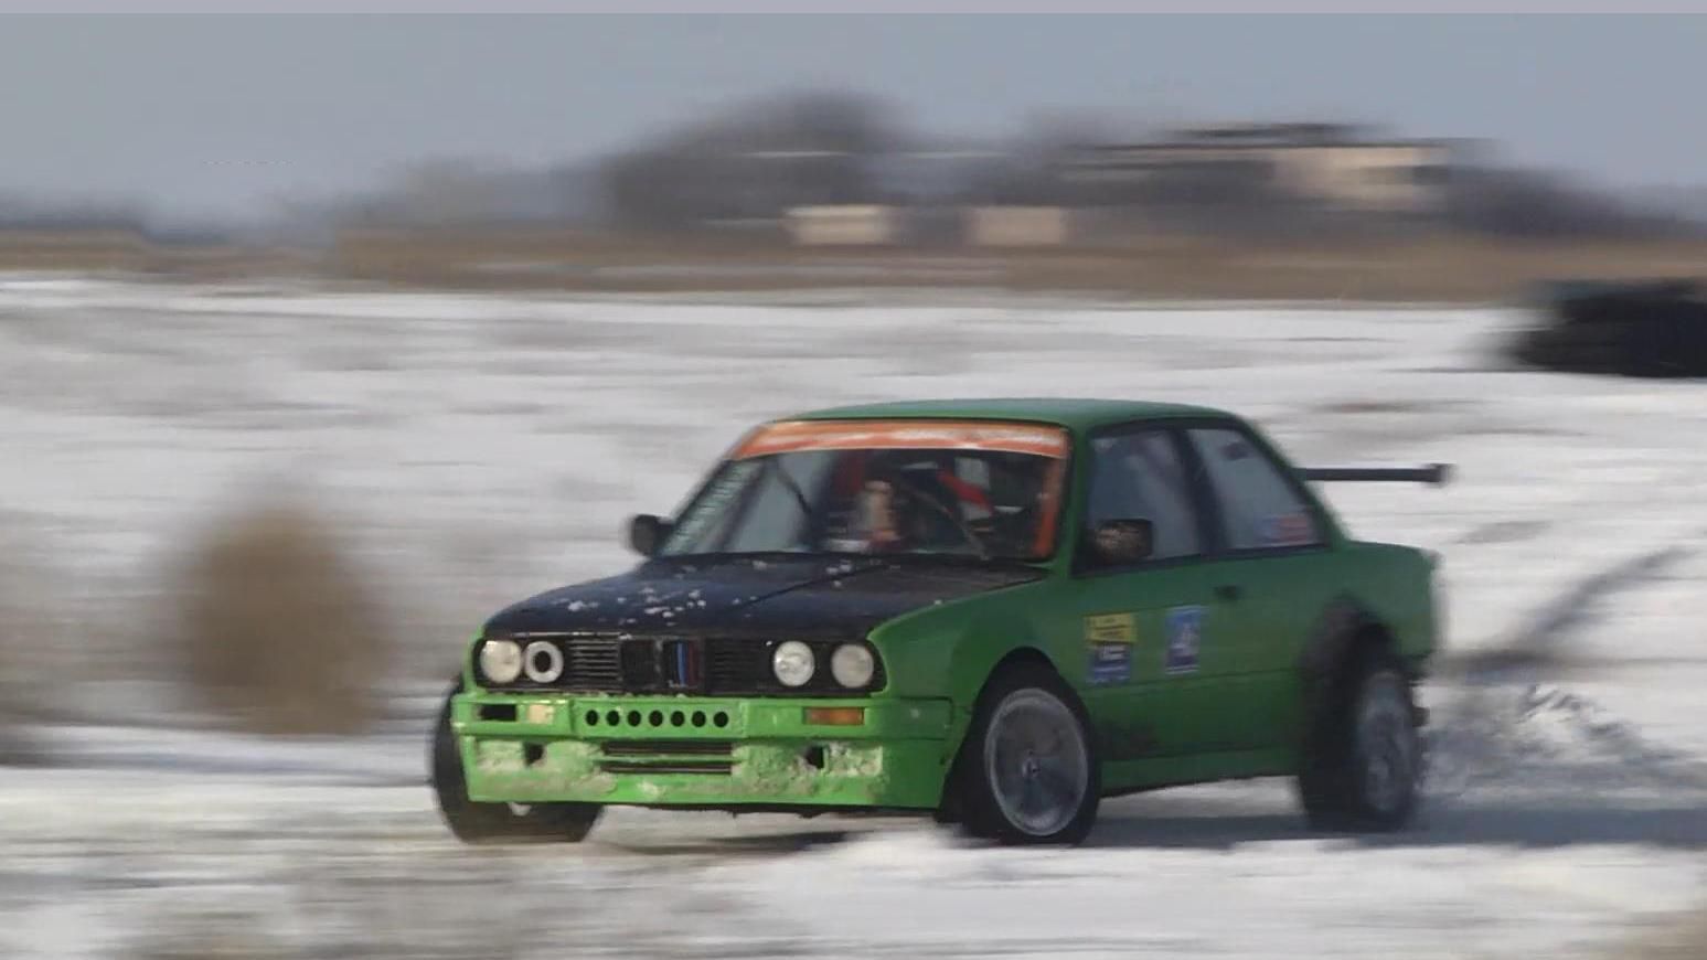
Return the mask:
M1304 499L1244 434L1202 429L1190 436L1221 502L1227 547L1272 550L1321 543Z

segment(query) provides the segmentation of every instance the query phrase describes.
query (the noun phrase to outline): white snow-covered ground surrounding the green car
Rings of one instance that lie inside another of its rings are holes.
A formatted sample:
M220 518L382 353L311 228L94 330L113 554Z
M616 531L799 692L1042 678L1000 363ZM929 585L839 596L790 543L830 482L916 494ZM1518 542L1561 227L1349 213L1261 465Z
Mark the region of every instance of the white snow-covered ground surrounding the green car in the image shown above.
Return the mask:
M53 769L0 767L0 957L1605 951L1707 904L1707 384L1506 369L1518 319L0 278L0 533L77 627L38 687L97 721L38 733ZM420 782L425 700L358 743L265 743L65 683L147 656L162 562L248 483L340 511L411 637L399 683L430 692L497 603L626 564L621 518L749 422L966 395L1198 401L1309 463L1456 463L1446 490L1331 490L1360 535L1446 557L1424 823L1318 837L1256 782L1111 801L1075 851L649 811L464 851Z

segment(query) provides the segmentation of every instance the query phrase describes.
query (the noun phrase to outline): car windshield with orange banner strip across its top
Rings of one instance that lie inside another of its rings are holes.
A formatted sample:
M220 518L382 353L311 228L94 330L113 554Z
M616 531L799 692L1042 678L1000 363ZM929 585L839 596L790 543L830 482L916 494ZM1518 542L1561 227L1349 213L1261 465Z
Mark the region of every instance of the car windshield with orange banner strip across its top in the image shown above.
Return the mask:
M661 555L1055 552L1069 441L1000 422L785 422L743 442Z

